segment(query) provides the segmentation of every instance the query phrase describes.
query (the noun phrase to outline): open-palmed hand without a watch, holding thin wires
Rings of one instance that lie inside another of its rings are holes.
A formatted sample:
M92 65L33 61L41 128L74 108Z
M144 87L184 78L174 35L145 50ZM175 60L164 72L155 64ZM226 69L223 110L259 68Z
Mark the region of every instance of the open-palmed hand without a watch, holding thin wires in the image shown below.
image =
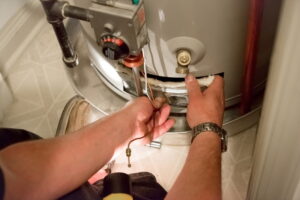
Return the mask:
M156 98L153 105L147 97L136 98L125 107L125 111L129 115L133 127L129 140L146 135L137 140L140 144L148 144L166 133L175 123L174 119L168 119L171 107L164 104L162 98ZM153 117L153 115L155 116Z

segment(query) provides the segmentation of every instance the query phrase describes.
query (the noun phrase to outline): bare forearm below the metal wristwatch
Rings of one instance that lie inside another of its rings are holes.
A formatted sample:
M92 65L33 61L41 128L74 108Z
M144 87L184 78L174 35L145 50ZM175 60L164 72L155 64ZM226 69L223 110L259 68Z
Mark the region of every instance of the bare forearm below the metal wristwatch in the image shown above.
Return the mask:
M217 134L198 135L167 200L221 199L221 148Z

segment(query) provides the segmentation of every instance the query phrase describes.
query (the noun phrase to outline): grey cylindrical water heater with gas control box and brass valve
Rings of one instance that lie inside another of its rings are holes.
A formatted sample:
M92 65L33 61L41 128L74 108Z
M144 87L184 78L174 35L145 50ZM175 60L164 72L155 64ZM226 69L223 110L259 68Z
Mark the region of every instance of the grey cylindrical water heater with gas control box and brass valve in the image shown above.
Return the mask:
M185 133L190 129L184 77L220 75L225 80L225 129L237 133L257 121L281 4L265 0L261 5L252 104L241 113L251 1L74 0L82 10L73 14L62 4L63 16L82 14L84 20L73 22L77 29L69 26L79 58L78 66L67 67L70 80L78 93L109 114L140 95L137 87L146 95L147 77L153 95L165 97L172 107L176 124L171 132ZM136 59L140 55L142 63ZM142 66L138 74L130 67L137 63Z

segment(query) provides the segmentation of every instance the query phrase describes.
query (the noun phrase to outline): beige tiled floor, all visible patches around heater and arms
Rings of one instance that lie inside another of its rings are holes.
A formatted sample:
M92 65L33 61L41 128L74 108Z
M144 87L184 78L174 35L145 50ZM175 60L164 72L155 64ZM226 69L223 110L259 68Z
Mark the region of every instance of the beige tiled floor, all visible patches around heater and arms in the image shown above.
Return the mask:
M15 102L1 126L27 129L45 138L53 137L62 109L75 93L66 77L50 26L45 25L32 41L7 81ZM256 127L252 127L229 139L229 150L222 155L225 200L245 199L255 133ZM161 150L137 147L133 149L133 167L128 169L126 157L120 155L113 171L150 171L169 189L183 166L188 149L187 146L170 145L163 145Z

